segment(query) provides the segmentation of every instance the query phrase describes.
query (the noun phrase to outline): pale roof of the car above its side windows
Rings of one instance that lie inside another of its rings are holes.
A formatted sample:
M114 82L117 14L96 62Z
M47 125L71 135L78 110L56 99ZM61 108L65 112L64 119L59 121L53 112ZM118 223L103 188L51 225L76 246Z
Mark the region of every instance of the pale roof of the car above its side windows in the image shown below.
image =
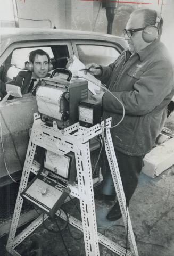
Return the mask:
M0 28L1 54L13 43L56 39L101 40L118 43L123 48L127 46L125 40L122 37L91 31L76 31L67 29Z

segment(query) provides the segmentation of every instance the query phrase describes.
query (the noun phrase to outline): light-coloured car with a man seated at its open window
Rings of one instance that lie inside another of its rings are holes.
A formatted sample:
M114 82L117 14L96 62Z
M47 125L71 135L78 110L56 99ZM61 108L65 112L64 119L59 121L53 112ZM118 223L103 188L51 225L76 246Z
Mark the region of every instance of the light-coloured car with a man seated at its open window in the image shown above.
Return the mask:
M66 68L67 60L73 55L85 65L92 62L107 65L115 61L127 47L121 37L86 31L1 28L0 34L2 83L13 80L19 71L25 70L25 62L34 49L46 51L51 57L53 69L56 69ZM0 186L20 179L29 129L32 127L33 114L37 111L35 96L23 95L0 106Z

